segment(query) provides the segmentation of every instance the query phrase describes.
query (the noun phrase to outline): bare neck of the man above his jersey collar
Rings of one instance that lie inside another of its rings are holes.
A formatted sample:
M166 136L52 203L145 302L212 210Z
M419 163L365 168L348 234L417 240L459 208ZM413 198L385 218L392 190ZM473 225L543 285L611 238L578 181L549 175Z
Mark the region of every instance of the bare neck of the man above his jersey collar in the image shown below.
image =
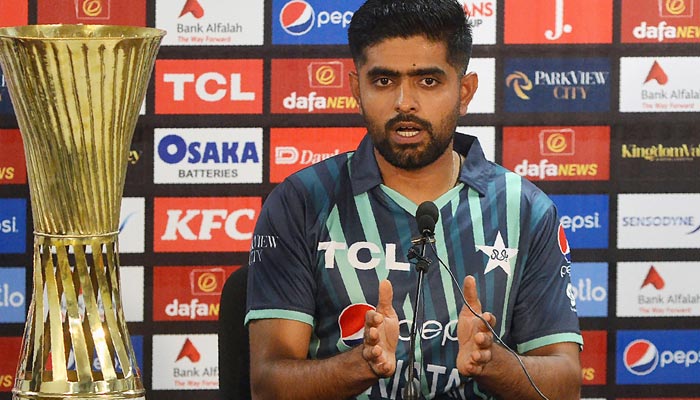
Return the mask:
M374 153L384 185L401 193L415 204L435 201L452 189L459 177L461 158L452 150L452 146L433 163L417 170L395 167L379 152L375 150Z

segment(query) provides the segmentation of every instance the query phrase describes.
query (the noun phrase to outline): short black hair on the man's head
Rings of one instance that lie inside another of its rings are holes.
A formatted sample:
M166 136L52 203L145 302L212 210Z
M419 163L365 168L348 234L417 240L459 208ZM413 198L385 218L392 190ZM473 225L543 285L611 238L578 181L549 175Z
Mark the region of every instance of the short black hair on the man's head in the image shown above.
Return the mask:
M447 61L465 73L472 51L472 33L457 0L367 0L353 15L348 44L356 66L364 51L382 40L424 36L447 45Z

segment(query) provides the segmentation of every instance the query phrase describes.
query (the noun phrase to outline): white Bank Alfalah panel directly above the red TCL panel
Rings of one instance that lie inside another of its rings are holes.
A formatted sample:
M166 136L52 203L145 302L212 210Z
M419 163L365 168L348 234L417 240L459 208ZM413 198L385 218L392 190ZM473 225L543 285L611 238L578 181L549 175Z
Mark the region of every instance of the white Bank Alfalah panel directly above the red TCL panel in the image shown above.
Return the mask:
M264 19L264 2L258 1L156 2L156 27L168 32L166 46L259 46Z

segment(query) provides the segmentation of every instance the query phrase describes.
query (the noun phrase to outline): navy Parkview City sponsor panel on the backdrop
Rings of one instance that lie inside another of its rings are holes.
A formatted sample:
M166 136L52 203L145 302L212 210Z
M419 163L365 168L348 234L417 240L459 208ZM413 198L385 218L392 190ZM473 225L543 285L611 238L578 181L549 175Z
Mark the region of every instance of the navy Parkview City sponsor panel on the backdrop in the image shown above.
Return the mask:
M505 61L508 112L603 112L610 109L610 62L603 58Z

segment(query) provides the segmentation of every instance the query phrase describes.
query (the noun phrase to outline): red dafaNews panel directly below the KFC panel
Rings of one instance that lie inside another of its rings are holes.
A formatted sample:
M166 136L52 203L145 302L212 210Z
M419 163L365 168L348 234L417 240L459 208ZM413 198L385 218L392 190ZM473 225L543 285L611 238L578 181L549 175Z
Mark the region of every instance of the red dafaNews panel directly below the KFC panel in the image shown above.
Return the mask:
M216 321L221 290L238 267L155 267L153 320Z

